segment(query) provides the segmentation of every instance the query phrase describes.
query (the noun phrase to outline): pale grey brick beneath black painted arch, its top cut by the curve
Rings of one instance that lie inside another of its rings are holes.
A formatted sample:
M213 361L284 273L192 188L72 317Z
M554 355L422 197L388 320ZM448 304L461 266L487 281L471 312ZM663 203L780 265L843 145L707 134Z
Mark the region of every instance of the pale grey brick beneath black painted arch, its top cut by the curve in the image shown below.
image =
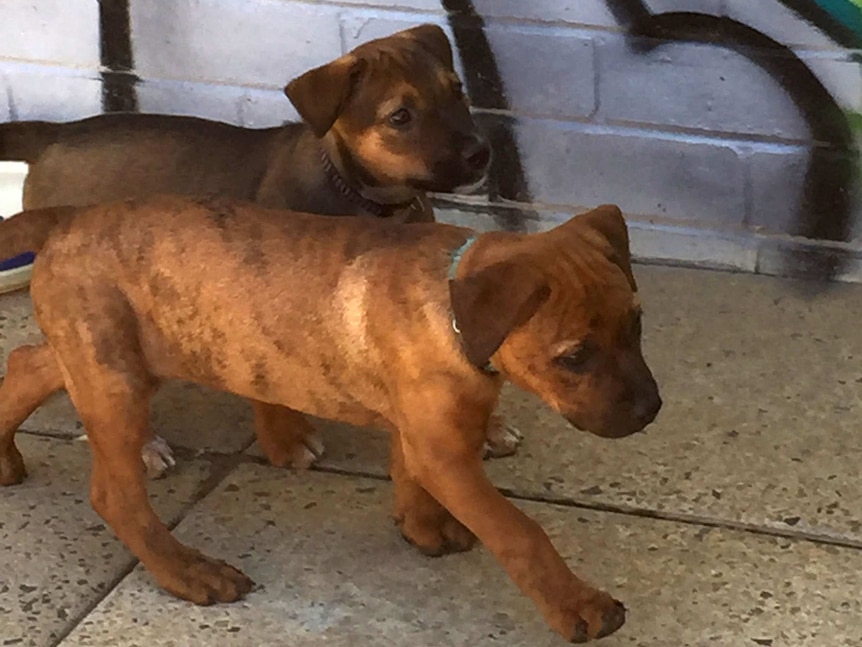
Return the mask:
M638 53L596 40L599 117L725 133L805 139L808 125L781 85L723 47L668 43Z

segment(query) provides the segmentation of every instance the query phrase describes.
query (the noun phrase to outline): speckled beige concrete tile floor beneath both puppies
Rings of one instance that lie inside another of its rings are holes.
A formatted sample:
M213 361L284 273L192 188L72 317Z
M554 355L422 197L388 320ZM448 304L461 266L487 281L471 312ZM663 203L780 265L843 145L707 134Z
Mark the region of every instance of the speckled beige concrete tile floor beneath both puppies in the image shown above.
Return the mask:
M526 440L489 473L569 563L626 602L627 625L599 644L862 644L862 286L636 271L666 402L659 421L601 440L507 390L503 412ZM0 297L0 355L33 338L26 295ZM255 460L254 447L238 454L252 433L233 398L180 385L154 420L175 444L211 452L186 451L153 484L176 490L181 510L227 473L222 463ZM80 430L62 399L25 428L60 438L22 434L38 469L0 491L0 643L54 645L71 631L59 644L561 644L484 551L428 560L401 542L388 485L374 478L382 434L327 425L324 467L337 474L246 463L198 500L180 536L260 585L240 604L198 609L140 568L126 576L132 562L106 531L90 537L99 520L86 505L86 444L63 439ZM36 510L49 529L19 531ZM36 598L66 611L37 616Z

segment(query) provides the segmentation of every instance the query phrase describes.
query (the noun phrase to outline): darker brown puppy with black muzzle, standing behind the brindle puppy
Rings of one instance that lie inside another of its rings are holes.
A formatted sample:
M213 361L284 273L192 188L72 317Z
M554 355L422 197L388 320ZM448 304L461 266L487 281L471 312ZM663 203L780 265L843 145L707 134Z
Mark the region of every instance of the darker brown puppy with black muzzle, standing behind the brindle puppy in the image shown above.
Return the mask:
M426 190L453 191L485 176L490 149L436 25L360 45L294 79L285 93L304 124L250 130L140 114L19 122L0 125L0 159L30 163L25 209L176 193L432 221ZM488 439L494 456L514 453L519 441L496 418ZM322 453L309 433L284 463L307 467ZM173 464L158 437L143 456L151 476Z

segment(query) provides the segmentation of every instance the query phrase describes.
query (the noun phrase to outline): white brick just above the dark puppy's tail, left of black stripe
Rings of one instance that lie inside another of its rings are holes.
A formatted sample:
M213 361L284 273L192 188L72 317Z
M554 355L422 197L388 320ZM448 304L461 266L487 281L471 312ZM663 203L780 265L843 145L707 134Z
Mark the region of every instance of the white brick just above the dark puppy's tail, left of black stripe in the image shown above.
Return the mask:
M15 120L65 121L102 111L102 83L96 72L0 63L0 86Z

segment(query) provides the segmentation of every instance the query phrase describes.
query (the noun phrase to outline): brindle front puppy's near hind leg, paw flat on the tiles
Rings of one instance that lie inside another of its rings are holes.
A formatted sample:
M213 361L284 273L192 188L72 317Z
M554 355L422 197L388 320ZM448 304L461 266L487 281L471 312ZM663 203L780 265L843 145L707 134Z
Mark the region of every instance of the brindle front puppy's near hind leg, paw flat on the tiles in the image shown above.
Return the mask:
M103 334L116 337L115 331L94 331ZM93 449L93 508L170 593L197 604L244 596L252 587L248 577L177 541L150 506L141 449L151 438L155 389L134 346L115 344L109 357L99 359L68 344L64 349L70 352L62 361L74 367L69 394Z

